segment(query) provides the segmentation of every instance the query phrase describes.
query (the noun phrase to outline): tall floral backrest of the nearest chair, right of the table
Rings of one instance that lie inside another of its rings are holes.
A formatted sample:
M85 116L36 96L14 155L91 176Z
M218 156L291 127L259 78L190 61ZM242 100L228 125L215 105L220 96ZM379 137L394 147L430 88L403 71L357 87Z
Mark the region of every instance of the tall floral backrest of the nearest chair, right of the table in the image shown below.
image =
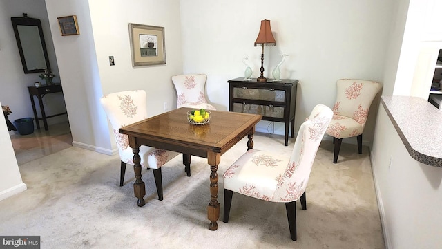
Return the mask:
M318 104L311 111L309 120L301 124L285 174L278 178L273 199L296 201L304 193L316 152L332 117L332 109Z

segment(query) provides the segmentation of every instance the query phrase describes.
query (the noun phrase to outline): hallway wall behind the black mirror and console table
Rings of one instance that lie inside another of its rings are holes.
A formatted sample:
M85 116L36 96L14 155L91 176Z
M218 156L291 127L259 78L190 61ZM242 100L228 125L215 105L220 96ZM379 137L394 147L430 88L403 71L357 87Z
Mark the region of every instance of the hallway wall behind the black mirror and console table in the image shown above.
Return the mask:
M0 100L3 104L10 106L12 110L10 114L11 121L17 118L34 117L27 86L34 86L34 82L44 83L44 80L39 78L41 73L25 74L23 72L10 19L11 17L23 17L23 12L28 13L28 17L40 19L46 48L48 49L50 66L55 75L57 75L54 82L60 82L44 0L0 1ZM66 112L62 93L46 95L44 103L47 116ZM37 113L40 113L38 102ZM67 116L57 116L48 119L48 123L55 124L66 122L67 120ZM43 122L40 123L43 126Z

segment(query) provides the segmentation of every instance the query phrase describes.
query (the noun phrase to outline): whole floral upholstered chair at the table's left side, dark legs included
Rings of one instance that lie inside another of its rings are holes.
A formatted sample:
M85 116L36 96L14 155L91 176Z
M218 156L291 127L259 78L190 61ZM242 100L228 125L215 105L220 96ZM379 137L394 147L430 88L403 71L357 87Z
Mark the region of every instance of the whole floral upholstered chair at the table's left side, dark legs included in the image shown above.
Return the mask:
M119 93L111 93L104 95L100 102L104 111L111 121L113 133L117 142L118 154L121 160L121 175L119 185L124 183L124 173L126 172L126 164L134 165L133 151L129 147L128 136L119 133L119 128L128 124L133 124L147 117L146 109L146 92L138 91L122 91ZM162 176L161 167L169 160L177 156L174 151L166 151L164 149L155 149L153 147L141 146L140 157L141 165L146 168L153 169L155 185L157 186L158 199L162 201ZM190 176L190 164L186 164L186 172Z

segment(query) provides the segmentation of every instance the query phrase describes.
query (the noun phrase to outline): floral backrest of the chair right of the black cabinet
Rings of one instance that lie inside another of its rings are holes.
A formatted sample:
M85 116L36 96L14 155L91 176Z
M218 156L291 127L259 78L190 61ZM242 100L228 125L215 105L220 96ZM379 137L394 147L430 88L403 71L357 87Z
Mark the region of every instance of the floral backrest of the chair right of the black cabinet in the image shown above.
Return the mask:
M369 80L340 79L337 84L335 115L353 118L365 125L368 110L374 97L381 89L381 84Z

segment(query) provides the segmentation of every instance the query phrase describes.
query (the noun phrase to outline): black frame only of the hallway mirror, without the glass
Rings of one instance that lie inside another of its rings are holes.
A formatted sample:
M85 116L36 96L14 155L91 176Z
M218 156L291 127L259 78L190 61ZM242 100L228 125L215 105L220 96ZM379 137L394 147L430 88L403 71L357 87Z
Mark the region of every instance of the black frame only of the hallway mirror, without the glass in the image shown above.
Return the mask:
M21 46L19 30L17 28L17 26L19 26L19 25L37 26L37 28L39 29L40 42L41 42L41 47L43 48L44 60L46 62L46 68L48 68L48 70L50 70L48 50L46 49L46 42L44 41L43 29L41 28L40 19L30 18L30 17L28 17L28 14L23 13L23 17L11 17L11 21L12 21L12 28L14 28L14 35L15 35L15 39L17 40L17 46L19 48L21 64L23 65L24 72L25 73L40 73L40 72L44 72L44 69L28 69L28 66L26 66L25 55L23 54L23 47Z

